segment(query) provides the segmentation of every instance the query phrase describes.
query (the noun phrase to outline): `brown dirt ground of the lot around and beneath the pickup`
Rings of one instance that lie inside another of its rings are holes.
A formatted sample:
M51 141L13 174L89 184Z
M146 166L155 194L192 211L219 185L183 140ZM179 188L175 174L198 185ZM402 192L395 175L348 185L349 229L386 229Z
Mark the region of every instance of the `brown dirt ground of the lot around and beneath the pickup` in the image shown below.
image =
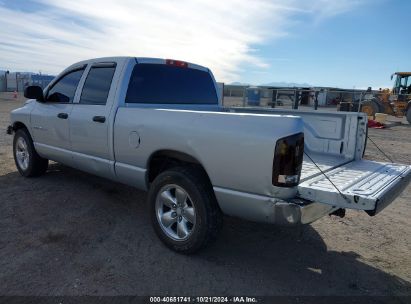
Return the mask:
M411 295L411 187L376 217L349 211L299 228L226 218L195 256L166 249L144 192L52 164L16 172L0 99L1 295ZM411 164L410 126L370 130ZM368 145L366 157L384 160Z

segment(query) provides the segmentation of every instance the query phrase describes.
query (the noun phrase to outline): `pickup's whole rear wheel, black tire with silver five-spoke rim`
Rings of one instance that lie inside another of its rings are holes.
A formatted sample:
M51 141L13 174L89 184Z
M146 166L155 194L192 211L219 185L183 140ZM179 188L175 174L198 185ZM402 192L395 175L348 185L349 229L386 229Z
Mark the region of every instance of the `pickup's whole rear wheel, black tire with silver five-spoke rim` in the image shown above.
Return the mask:
M161 173L148 195L152 224L169 248L190 254L214 241L222 213L205 174L192 167Z

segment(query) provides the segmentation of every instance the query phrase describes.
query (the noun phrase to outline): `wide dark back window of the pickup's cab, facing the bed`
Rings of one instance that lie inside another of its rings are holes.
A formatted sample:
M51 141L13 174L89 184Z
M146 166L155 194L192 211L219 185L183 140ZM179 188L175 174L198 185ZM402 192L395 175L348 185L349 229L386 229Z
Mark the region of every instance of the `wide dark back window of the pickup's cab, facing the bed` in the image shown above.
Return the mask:
M214 81L207 71L139 63L131 75L126 102L217 104L218 98Z

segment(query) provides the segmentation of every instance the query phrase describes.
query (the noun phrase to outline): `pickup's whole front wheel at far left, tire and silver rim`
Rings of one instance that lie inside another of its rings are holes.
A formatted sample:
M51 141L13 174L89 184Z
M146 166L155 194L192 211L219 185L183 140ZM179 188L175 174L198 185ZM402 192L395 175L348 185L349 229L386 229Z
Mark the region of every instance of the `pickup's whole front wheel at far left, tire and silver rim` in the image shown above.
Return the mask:
M13 156L17 170L24 177L39 176L47 171L48 160L37 154L26 129L18 129L14 134Z

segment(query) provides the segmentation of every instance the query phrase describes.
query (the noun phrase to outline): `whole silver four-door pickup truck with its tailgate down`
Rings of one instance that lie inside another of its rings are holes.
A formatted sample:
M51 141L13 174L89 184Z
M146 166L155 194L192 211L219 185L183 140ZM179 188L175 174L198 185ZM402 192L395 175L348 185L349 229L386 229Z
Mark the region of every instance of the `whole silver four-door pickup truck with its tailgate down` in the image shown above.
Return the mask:
M11 113L25 177L48 160L148 190L161 240L192 253L223 214L307 224L346 208L375 215L406 187L411 167L362 160L363 113L223 108L209 69L114 57L76 63Z

